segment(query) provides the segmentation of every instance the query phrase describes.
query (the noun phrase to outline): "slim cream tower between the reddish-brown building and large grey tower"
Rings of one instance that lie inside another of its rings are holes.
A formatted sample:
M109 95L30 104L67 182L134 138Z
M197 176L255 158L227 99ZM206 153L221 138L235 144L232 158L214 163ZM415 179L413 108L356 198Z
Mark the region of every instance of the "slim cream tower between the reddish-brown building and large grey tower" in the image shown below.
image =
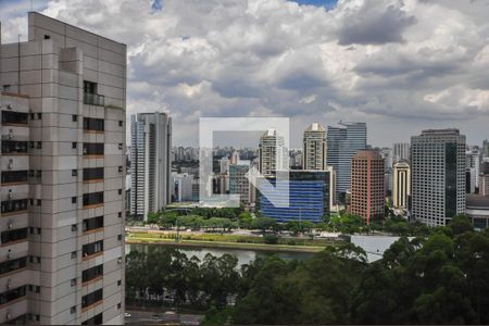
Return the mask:
M411 196L411 167L410 164L398 162L393 166L392 205L394 209L406 210Z

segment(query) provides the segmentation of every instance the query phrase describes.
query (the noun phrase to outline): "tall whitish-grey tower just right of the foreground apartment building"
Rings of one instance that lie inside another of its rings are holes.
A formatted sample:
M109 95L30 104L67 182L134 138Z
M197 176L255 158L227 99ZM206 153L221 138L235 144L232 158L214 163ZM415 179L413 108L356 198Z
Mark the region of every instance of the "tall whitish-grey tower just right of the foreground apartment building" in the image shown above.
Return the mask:
M172 118L163 112L133 115L130 136L130 214L146 220L148 213L164 209L173 193Z

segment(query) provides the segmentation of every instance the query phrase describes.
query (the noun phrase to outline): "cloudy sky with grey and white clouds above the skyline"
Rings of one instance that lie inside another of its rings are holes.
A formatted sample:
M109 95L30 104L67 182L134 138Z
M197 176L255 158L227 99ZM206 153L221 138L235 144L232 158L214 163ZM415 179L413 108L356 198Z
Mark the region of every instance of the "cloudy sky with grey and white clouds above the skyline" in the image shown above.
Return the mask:
M460 128L471 145L489 138L489 0L33 0L33 8L126 43L127 111L168 112L174 145L198 143L201 116L290 117L292 147L312 122L366 122L373 146L442 127ZM26 39L29 10L30 0L0 0L2 42Z

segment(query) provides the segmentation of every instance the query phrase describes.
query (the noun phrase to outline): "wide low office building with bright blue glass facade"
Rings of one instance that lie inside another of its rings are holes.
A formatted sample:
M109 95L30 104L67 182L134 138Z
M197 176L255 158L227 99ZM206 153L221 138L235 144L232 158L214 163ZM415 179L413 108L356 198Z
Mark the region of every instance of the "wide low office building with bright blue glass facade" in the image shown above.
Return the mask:
M269 177L267 180L275 187L274 177ZM265 189L271 187L265 179L258 181ZM317 223L323 221L325 214L329 214L329 172L291 171L289 181L284 185L284 188L287 185L289 186L288 208L276 208L268 198L258 192L256 209L263 217L272 217L278 222L310 221ZM275 191L272 201L284 200L286 196L286 189Z

